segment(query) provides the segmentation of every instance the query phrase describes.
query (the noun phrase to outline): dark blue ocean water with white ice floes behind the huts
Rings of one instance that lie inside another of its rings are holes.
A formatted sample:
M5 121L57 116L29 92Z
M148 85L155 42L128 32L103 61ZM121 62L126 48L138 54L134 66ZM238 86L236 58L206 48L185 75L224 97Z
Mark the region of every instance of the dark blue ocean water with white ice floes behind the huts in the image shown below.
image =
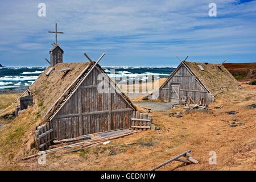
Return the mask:
M173 67L102 67L112 78L127 77L147 81L148 75L157 78L168 77L174 71ZM0 68L0 92L11 90L26 90L33 84L46 67L3 67Z

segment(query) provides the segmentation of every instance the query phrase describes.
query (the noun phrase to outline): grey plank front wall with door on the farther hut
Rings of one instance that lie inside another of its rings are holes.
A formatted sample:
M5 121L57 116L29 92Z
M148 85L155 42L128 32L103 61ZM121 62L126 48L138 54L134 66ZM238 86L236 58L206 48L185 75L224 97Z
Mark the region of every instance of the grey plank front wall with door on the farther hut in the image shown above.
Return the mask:
M179 84L179 96L189 96L196 103L200 102L200 98L204 99L204 104L208 105L213 102L213 97L210 93L205 91L203 86L191 75L184 65L176 71L175 75L159 90L159 98L165 102L179 102L172 100L172 84Z

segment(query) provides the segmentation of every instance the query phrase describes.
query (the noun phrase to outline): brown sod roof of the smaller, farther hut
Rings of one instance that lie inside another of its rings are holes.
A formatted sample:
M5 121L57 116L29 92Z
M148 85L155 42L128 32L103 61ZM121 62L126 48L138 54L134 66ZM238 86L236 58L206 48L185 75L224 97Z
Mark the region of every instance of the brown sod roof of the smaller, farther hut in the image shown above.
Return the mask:
M191 69L204 86L216 96L229 89L239 89L240 84L231 75L231 73L222 64L195 63L185 61L185 64ZM198 65L204 68L201 71Z

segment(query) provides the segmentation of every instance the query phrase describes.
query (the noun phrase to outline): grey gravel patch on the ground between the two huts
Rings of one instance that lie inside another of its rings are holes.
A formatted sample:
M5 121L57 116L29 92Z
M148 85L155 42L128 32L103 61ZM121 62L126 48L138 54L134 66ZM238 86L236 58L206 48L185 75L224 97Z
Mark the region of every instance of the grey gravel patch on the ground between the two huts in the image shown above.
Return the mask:
M148 109L152 109L152 111L166 111L171 109L171 102L133 102L137 106L147 107Z

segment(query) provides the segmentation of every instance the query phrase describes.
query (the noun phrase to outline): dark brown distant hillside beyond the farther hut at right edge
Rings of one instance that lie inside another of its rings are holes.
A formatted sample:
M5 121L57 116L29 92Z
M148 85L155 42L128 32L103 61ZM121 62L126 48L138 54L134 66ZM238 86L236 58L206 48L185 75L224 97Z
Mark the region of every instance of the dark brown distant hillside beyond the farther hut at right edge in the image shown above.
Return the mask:
M237 80L256 79L256 63L224 63L223 65Z

